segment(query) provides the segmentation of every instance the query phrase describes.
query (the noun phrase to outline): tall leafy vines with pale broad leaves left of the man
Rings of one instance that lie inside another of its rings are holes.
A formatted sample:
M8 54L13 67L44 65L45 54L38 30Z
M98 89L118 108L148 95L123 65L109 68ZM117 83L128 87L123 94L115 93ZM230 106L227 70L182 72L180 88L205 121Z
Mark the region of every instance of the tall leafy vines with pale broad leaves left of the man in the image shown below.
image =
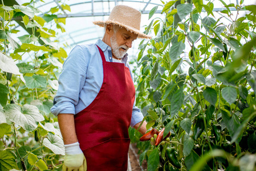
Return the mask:
M0 170L61 170L64 146L52 99L66 51L56 40L70 7L0 6ZM17 22L15 22L17 21ZM19 20L20 19L20 20ZM21 35L15 27L26 28ZM15 41L17 37L19 42Z

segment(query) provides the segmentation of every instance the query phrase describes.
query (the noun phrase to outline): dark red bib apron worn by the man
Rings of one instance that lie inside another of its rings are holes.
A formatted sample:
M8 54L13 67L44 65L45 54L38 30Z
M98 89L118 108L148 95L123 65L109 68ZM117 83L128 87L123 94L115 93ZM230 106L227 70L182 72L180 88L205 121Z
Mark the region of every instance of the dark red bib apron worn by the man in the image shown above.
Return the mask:
M103 84L95 100L75 115L76 135L88 171L127 170L135 87L129 68L123 63L106 62L103 51L99 51Z

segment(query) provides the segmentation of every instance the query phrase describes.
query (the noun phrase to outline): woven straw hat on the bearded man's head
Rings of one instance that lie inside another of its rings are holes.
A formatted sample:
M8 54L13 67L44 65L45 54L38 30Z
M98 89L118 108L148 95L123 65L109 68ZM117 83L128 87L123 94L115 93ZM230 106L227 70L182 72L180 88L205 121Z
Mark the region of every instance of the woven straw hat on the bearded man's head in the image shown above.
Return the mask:
M128 31L134 32L138 35L138 38L151 39L151 36L140 32L140 21L140 11L126 5L117 5L113 8L106 21L94 21L93 23L101 27L104 27L105 24L112 23L113 25L119 25Z

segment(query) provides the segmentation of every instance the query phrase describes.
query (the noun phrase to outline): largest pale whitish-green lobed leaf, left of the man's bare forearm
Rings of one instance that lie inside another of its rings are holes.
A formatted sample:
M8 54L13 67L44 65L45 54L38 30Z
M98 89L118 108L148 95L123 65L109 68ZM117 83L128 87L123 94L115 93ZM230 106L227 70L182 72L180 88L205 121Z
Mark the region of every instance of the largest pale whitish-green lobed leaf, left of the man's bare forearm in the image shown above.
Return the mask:
M33 131L38 126L37 122L44 120L34 105L25 104L21 107L18 104L8 104L4 109L7 119L20 125L26 131Z

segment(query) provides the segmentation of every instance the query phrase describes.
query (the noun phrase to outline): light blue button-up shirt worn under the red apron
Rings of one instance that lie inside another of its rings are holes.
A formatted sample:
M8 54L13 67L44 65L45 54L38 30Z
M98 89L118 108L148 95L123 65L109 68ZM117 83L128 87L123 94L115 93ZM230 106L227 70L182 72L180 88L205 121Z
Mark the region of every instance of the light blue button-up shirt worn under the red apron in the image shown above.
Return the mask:
M54 106L51 108L54 115L79 113L90 105L99 93L103 83L103 65L96 45L104 52L106 61L112 62L111 47L100 39L95 44L76 46L65 60L59 76L59 88L54 97ZM132 76L131 68L127 64L127 55L124 55L121 62L129 68ZM142 120L143 114L134 103L131 127Z

